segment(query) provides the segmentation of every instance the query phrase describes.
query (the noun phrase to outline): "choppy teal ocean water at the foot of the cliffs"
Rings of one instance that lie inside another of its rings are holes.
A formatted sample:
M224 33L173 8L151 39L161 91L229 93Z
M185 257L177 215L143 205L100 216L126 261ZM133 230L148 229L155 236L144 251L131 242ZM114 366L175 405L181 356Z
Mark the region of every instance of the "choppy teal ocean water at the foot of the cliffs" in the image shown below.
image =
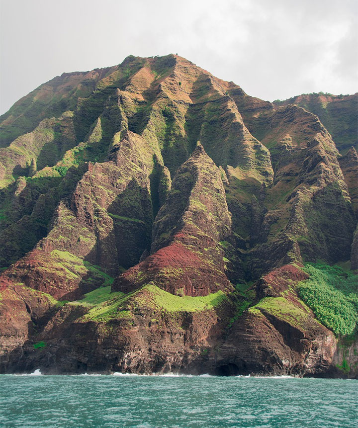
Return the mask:
M0 427L358 427L350 379L1 375L0 383Z

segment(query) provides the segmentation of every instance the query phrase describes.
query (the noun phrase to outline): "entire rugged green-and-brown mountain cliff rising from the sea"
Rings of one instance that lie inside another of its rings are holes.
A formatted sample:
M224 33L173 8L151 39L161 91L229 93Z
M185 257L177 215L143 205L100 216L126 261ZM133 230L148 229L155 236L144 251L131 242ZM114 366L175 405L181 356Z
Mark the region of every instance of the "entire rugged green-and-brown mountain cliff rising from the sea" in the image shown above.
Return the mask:
M306 98L168 55L14 104L1 370L357 376L354 97Z

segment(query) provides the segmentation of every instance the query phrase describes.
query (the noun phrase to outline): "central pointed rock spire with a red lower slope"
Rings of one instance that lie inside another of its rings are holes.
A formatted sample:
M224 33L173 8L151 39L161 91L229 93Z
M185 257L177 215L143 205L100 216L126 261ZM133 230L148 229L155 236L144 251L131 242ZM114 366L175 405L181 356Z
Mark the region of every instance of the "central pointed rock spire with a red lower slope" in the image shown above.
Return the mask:
M153 254L123 273L113 289L129 292L153 282L172 294L187 296L231 290L219 247L230 226L220 171L198 143L177 172L157 215Z

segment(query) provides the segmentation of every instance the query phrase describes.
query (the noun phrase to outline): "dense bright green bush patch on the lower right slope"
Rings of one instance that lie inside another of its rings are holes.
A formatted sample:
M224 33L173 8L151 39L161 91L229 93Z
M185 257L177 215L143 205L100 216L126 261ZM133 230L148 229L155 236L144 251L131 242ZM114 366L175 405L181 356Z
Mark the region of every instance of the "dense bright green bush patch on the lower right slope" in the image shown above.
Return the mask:
M307 263L310 277L298 284L302 300L336 336L352 334L358 322L357 275L339 266Z

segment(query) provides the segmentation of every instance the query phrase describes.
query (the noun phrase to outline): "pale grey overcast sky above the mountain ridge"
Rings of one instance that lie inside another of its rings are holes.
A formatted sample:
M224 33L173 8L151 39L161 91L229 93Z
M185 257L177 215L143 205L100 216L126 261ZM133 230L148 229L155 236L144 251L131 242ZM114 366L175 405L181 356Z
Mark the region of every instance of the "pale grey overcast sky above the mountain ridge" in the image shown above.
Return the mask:
M358 90L357 0L0 0L0 113L63 72L178 53L272 101Z

